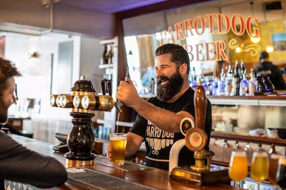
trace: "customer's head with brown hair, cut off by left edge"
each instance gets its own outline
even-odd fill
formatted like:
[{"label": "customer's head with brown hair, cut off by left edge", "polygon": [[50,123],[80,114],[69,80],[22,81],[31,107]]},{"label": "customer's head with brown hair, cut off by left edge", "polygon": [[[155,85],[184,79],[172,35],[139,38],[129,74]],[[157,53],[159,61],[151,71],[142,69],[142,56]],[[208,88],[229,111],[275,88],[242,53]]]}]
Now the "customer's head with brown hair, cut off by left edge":
[{"label": "customer's head with brown hair, cut off by left edge", "polygon": [[0,123],[7,121],[8,108],[16,102],[14,76],[20,75],[10,61],[0,58]]}]

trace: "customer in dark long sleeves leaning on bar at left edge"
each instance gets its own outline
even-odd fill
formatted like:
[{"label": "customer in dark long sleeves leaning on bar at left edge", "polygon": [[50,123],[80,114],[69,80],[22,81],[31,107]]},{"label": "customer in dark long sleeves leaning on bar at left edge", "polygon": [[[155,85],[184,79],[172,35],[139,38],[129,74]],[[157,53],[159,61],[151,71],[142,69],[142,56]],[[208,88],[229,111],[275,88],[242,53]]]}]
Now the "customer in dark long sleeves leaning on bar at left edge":
[{"label": "customer in dark long sleeves leaning on bar at left edge", "polygon": [[[20,75],[10,61],[0,58],[0,128],[16,102],[14,76]],[[0,190],[4,180],[51,188],[67,181],[67,171],[55,158],[31,151],[0,131]]]}]

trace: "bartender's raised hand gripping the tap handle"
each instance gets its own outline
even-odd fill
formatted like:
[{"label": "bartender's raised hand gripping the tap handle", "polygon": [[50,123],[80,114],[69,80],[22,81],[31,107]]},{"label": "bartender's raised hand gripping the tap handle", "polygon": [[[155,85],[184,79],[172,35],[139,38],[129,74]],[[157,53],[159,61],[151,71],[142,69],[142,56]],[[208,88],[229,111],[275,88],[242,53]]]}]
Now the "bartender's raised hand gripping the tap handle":
[{"label": "bartender's raised hand gripping the tap handle", "polygon": [[116,98],[128,107],[134,107],[141,99],[133,82],[128,77],[125,77],[125,81],[120,81],[117,90]]}]

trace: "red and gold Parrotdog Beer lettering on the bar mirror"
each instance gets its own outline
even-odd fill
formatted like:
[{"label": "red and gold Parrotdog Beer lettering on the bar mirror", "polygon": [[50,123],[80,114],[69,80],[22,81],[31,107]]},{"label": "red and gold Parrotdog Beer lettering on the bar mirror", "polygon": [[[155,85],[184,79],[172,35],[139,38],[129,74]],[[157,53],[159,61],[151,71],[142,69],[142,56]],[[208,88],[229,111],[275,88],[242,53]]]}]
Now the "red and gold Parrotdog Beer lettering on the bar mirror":
[{"label": "red and gold Parrotdog Beer lettering on the bar mirror", "polygon": [[[161,36],[166,35],[166,38],[160,38],[160,46],[166,43],[177,43],[178,41],[185,40],[189,36],[202,35],[209,27],[210,34],[227,34],[232,32],[236,36],[241,36],[245,32],[252,38],[260,38],[258,19],[254,16],[249,16],[246,20],[240,14],[233,14],[228,17],[226,14],[207,14],[205,16],[197,16],[193,19],[185,19],[182,22],[177,22],[174,26],[169,26],[168,30],[161,31]],[[216,30],[214,30],[216,28]],[[241,51],[250,52],[251,55],[257,55],[261,49],[256,44],[244,46],[243,44],[236,44],[236,39],[231,39],[228,42],[230,49],[239,47]],[[191,61],[208,60],[227,60],[225,53],[226,43],[222,40],[196,44],[195,46],[183,45],[188,53],[191,55]],[[205,49],[205,55],[203,55]]]}]

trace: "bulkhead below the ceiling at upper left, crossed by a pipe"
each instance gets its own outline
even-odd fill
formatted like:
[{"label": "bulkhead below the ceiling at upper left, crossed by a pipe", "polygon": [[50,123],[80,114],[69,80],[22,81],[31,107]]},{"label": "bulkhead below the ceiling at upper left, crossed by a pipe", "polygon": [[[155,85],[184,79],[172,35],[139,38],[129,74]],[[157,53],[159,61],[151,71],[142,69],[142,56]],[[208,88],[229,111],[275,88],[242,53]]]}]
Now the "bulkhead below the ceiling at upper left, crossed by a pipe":
[{"label": "bulkhead below the ceiling at upper left, crossed by a pipe", "polygon": [[[61,1],[54,3],[53,7],[55,31],[69,31],[98,39],[113,37],[113,14],[64,6]],[[0,15],[0,30],[36,34],[50,28],[50,11],[41,0],[1,0]]]}]

